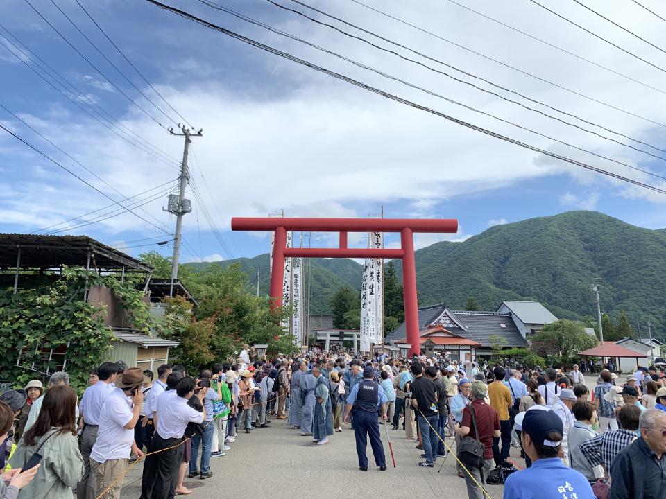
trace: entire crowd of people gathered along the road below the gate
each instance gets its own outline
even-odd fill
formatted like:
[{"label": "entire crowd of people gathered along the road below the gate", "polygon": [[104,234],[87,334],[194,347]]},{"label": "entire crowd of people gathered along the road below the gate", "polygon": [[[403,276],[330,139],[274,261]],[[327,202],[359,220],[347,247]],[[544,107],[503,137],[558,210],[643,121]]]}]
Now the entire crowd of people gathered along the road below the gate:
[{"label": "entire crowd of people gathered along the road below the gate", "polygon": [[271,419],[313,446],[353,430],[364,472],[368,439],[386,471],[379,428],[391,425],[422,450],[422,468],[454,454],[470,499],[489,497],[489,483],[504,483],[512,499],[666,497],[666,378],[654,367],[624,383],[603,369],[590,393],[577,365],[564,372],[317,349],[259,358],[248,345],[231,360],[189,374],[180,365],[153,373],[104,362],[80,401],[65,372],[46,389],[31,380],[4,392],[0,499],[119,499],[137,460],[142,499],[188,495],[186,476],[212,477],[213,458]]}]

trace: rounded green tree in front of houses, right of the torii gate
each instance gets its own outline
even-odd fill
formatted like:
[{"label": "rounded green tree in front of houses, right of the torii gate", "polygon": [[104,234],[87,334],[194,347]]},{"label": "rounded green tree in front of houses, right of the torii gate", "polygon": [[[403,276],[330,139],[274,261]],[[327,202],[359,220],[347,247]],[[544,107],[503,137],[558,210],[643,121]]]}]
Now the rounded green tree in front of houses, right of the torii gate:
[{"label": "rounded green tree in front of houses, right of the torii gate", "polygon": [[585,332],[583,323],[560,319],[543,326],[543,330],[532,337],[530,348],[557,364],[569,364],[579,358],[579,351],[597,344],[597,340]]}]

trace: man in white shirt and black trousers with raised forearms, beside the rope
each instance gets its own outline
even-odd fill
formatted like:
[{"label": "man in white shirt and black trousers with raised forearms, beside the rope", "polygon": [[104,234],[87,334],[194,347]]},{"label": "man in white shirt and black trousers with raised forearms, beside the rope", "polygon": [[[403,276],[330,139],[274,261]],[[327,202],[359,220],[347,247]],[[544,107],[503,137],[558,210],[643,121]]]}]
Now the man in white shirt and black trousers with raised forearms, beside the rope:
[{"label": "man in white shirt and black trousers with raised forearms, beside the rope", "polygon": [[[146,458],[141,484],[141,499],[173,498],[178,481],[178,468],[182,462],[184,447],[182,436],[187,423],[202,423],[206,417],[206,409],[198,412],[187,404],[194,395],[194,378],[187,376],[178,381],[176,396],[164,394],[153,408],[155,435],[151,452]],[[207,388],[199,390],[197,397],[203,405]],[[164,450],[164,449],[169,450]],[[161,451],[161,452],[157,452]]]}]

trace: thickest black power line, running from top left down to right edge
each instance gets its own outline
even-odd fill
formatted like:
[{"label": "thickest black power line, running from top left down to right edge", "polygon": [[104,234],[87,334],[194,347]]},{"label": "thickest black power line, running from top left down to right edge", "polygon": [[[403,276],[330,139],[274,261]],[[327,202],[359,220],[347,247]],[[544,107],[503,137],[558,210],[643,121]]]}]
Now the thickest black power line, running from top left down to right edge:
[{"label": "thickest black power line, running from top left down to right edge", "polygon": [[335,71],[332,71],[330,69],[325,69],[321,66],[318,66],[317,64],[313,64],[311,62],[308,62],[307,60],[303,60],[301,58],[298,58],[295,55],[291,55],[289,53],[280,51],[280,50],[275,49],[271,46],[263,44],[261,42],[257,42],[256,40],[248,38],[244,35],[239,35],[238,33],[234,33],[231,30],[223,28],[222,26],[218,26],[216,24],[211,23],[210,21],[205,21],[205,19],[200,19],[199,17],[196,17],[192,14],[189,14],[189,12],[185,12],[184,10],[180,10],[180,9],[177,9],[177,8],[174,8],[174,7],[171,7],[171,6],[167,6],[164,3],[160,3],[157,0],[146,0],[146,1],[148,1],[149,3],[153,3],[153,5],[158,6],[162,9],[164,9],[164,10],[169,10],[169,12],[176,13],[177,15],[180,15],[181,17],[183,17],[185,19],[189,19],[190,21],[194,21],[197,24],[200,24],[200,25],[205,26],[207,28],[210,28],[212,30],[219,31],[220,33],[223,33],[224,35],[228,35],[229,37],[232,37],[236,40],[239,40],[241,42],[244,42],[246,44],[254,46],[257,49],[262,49],[263,51],[266,51],[268,53],[272,53],[274,55],[279,55],[282,58],[285,58],[287,60],[291,60],[292,62],[296,62],[297,64],[302,64],[305,67],[309,67],[310,69],[314,69],[315,71],[323,73],[327,76],[331,76],[332,78],[342,80],[344,82],[349,83],[350,85],[355,85],[356,87],[359,87],[361,89],[366,89],[367,91],[370,91],[373,94],[377,94],[377,95],[382,96],[384,98],[394,100],[395,102],[398,102],[398,103],[401,103],[401,104],[404,104],[404,105],[408,105],[409,107],[413,107],[414,109],[418,109],[418,110],[421,110],[421,111],[428,112],[430,114],[434,114],[435,116],[439,116],[443,119],[446,119],[447,121],[451,121],[452,123],[456,123],[456,124],[462,125],[466,128],[476,130],[477,132],[481,132],[483,134],[490,135],[490,137],[495,137],[497,139],[500,139],[500,140],[503,140],[503,141],[506,141],[506,142],[509,142],[509,143],[513,143],[517,146],[521,146],[523,148],[532,150],[534,152],[539,152],[540,154],[552,157],[554,159],[560,159],[561,161],[565,161],[567,163],[570,163],[570,164],[573,164],[573,165],[576,165],[576,166],[580,166],[581,168],[586,168],[587,170],[595,171],[597,173],[601,173],[603,175],[615,178],[617,180],[622,180],[624,182],[629,182],[631,184],[641,186],[644,189],[649,189],[651,191],[655,191],[655,192],[658,192],[658,193],[661,193],[661,194],[666,194],[666,190],[660,189],[657,186],[653,186],[653,185],[650,185],[650,184],[645,184],[644,182],[640,182],[638,180],[634,180],[634,179],[631,179],[631,178],[628,178],[628,177],[624,177],[622,175],[610,172],[608,170],[604,170],[602,168],[597,168],[596,166],[592,166],[590,164],[583,163],[583,161],[577,161],[577,160],[569,158],[569,157],[558,155],[555,152],[545,150],[545,149],[542,149],[542,148],[538,148],[537,146],[532,146],[529,143],[524,143],[522,141],[518,141],[517,139],[511,139],[511,137],[506,137],[506,136],[504,136],[502,134],[499,134],[497,132],[493,132],[491,130],[487,130],[486,128],[481,128],[477,125],[473,125],[472,123],[468,123],[468,122],[463,121],[461,119],[454,118],[453,116],[450,116],[450,115],[445,114],[443,112],[440,112],[438,110],[434,110],[431,107],[420,105],[420,104],[412,102],[411,100],[407,100],[405,98],[395,96],[393,94],[389,94],[386,91],[383,91],[381,89],[377,89],[376,87],[372,87],[370,85],[366,85],[363,82],[360,82],[358,80],[354,80],[353,78],[345,76],[341,73],[336,73]]}]

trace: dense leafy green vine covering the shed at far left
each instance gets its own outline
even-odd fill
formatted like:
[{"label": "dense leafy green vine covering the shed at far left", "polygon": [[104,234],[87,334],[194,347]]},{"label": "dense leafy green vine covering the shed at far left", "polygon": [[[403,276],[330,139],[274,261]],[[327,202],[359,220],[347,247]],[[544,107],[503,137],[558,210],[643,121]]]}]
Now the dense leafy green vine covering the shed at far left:
[{"label": "dense leafy green vine covering the shed at far left", "polygon": [[[0,373],[17,387],[33,378],[42,378],[35,369],[53,372],[67,360],[71,386],[80,392],[87,385],[90,367],[99,364],[108,351],[114,335],[103,324],[103,308],[83,301],[86,281],[103,285],[96,272],[80,268],[65,269],[61,279],[42,286],[0,291]],[[133,311],[133,310],[130,310]],[[69,344],[69,346],[67,346]],[[49,352],[67,349],[67,356]],[[21,353],[20,365],[17,358]]]}]

